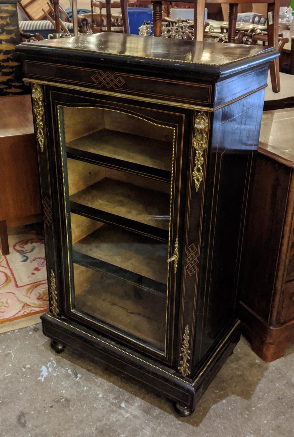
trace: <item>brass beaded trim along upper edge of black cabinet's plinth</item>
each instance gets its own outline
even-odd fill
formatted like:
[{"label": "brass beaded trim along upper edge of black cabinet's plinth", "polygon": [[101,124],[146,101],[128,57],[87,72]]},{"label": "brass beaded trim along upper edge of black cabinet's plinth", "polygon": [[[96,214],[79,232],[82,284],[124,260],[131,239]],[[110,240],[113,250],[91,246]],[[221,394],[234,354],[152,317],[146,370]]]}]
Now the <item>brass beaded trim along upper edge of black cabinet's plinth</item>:
[{"label": "brass beaded trim along upper edge of black cabinet's plinth", "polygon": [[230,332],[228,333],[228,335],[225,337],[225,339],[221,342],[221,344],[219,345],[219,347],[217,348],[217,350],[214,352],[214,354],[211,356],[211,358],[209,359],[209,361],[207,362],[207,364],[204,366],[204,368],[201,370],[201,372],[199,373],[199,375],[197,375],[197,377],[194,379],[193,383],[188,382],[186,379],[180,378],[179,376],[173,375],[171,372],[168,372],[166,370],[163,370],[162,368],[156,366],[155,364],[151,364],[148,361],[143,360],[142,358],[136,357],[133,354],[130,354],[129,352],[126,352],[125,350],[114,346],[111,343],[108,343],[107,341],[101,340],[100,338],[98,338],[97,336],[91,335],[86,333],[85,331],[82,331],[82,329],[76,328],[76,326],[73,325],[69,325],[69,323],[64,322],[63,320],[59,320],[56,317],[51,316],[50,314],[45,314],[45,317],[50,317],[51,319],[57,320],[59,323],[63,323],[66,326],[69,326],[70,328],[75,329],[78,332],[81,332],[82,334],[87,335],[88,337],[91,337],[97,341],[99,341],[100,343],[104,343],[107,344],[107,346],[110,346],[116,350],[119,350],[120,352],[122,352],[125,355],[128,355],[129,357],[133,357],[138,361],[141,361],[142,363],[148,364],[150,367],[157,369],[163,373],[166,373],[166,375],[171,376],[172,378],[175,379],[179,379],[180,381],[185,382],[186,384],[190,385],[191,387],[193,387],[194,385],[196,385],[196,382],[201,378],[201,376],[204,374],[204,372],[207,370],[207,368],[209,367],[209,365],[211,364],[211,362],[214,360],[215,356],[218,354],[218,351],[221,349],[221,347],[223,347],[223,345],[225,344],[225,342],[228,340],[229,336],[234,332],[234,330],[236,329],[236,327],[240,324],[240,320],[238,320],[235,325],[232,327],[232,329],[230,330]]}]

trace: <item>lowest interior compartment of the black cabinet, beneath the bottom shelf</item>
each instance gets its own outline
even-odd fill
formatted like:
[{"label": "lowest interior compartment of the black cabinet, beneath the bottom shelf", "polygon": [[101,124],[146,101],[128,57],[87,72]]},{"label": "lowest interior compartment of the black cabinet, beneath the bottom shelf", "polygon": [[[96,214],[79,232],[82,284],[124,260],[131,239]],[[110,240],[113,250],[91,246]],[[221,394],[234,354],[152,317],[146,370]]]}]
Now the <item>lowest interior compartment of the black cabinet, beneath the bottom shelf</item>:
[{"label": "lowest interior compartment of the black cabinet, beneath the bottom shelf", "polygon": [[77,315],[164,350],[166,290],[154,293],[81,264],[73,264],[73,271]]}]

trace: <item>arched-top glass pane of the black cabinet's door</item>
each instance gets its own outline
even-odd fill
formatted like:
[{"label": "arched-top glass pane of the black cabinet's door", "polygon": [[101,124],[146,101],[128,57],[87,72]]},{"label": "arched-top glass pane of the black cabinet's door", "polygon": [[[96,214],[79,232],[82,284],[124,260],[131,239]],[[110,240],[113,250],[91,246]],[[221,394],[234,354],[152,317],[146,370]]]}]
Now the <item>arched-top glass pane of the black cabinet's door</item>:
[{"label": "arched-top glass pane of the black cabinet's door", "polygon": [[72,310],[165,349],[174,129],[102,108],[59,107]]}]

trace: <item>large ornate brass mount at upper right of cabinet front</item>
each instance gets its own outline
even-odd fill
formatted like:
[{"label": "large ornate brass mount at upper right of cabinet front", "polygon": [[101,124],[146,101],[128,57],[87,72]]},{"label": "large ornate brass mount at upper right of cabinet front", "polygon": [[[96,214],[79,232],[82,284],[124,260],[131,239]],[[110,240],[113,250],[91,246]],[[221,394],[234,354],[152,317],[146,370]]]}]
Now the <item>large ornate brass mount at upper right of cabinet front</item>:
[{"label": "large ornate brass mount at upper right of cabinet front", "polygon": [[193,179],[195,183],[195,189],[198,191],[201,180],[203,179],[203,151],[208,146],[208,116],[204,111],[199,112],[194,121],[194,137],[192,139],[192,146],[196,150],[194,159]]}]

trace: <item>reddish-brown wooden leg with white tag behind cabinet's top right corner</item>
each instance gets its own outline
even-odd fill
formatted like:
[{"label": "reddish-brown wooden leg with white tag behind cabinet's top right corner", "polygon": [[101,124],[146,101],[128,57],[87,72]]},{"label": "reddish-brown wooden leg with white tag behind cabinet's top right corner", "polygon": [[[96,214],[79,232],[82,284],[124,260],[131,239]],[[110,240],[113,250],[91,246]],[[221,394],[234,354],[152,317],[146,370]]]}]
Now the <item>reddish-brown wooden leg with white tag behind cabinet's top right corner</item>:
[{"label": "reddish-brown wooden leg with white tag behind cabinet's top right corner", "polygon": [[[267,5],[267,43],[270,47],[279,48],[279,14],[280,0]],[[280,86],[280,68],[279,58],[270,62],[270,80],[274,93],[279,93]]]}]

